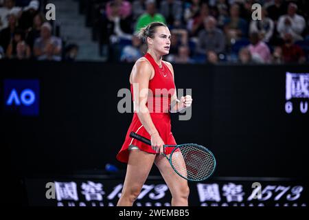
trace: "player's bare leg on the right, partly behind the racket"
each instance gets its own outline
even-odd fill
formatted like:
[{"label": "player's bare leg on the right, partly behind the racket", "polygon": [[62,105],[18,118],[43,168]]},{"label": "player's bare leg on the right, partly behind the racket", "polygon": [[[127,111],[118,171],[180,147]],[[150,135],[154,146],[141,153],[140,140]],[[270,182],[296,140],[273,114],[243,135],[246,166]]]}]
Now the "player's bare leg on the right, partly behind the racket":
[{"label": "player's bare leg on the right, partly behind the racket", "polygon": [[[155,164],[159,168],[165,183],[168,184],[168,188],[172,194],[172,206],[188,206],[187,199],[190,189],[187,186],[187,180],[175,173],[164,156],[157,155]],[[185,162],[183,162],[183,166],[185,167]]]}]

